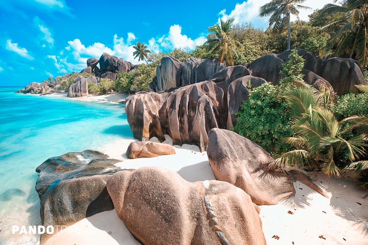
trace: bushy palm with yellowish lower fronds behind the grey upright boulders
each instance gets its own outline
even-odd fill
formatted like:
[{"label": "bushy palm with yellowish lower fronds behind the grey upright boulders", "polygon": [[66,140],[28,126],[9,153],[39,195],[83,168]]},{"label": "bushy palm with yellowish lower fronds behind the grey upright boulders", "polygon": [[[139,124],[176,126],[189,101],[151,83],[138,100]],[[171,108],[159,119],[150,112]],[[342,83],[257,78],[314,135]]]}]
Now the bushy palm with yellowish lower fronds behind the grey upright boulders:
[{"label": "bushy palm with yellowish lower fronds behind the grey upright boulders", "polygon": [[211,58],[217,53],[219,62],[224,60],[229,66],[234,65],[234,55],[238,58],[235,48],[244,50],[243,45],[230,37],[231,24],[234,22],[234,18],[230,18],[226,21],[220,20],[220,25],[208,27],[208,31],[212,32],[209,35],[208,40],[204,43],[207,50],[210,51]]}]

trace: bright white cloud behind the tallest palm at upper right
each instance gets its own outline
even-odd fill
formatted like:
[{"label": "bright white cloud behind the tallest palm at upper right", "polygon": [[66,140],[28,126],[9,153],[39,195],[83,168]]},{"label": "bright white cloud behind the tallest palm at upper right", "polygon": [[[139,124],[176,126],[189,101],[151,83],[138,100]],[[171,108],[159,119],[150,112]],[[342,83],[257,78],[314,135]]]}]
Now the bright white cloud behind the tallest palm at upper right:
[{"label": "bright white cloud behind the tallest palm at upper right", "polygon": [[[219,19],[227,20],[229,18],[234,18],[235,24],[247,22],[252,23],[252,25],[254,25],[254,27],[256,28],[265,29],[268,27],[270,16],[261,18],[258,15],[260,7],[268,3],[269,1],[270,0],[248,0],[243,1],[243,3],[236,3],[235,8],[231,10],[229,14],[226,13],[226,9],[221,10],[219,12],[220,16]],[[313,10],[317,8],[320,9],[327,3],[333,3],[333,0],[314,1],[313,6],[308,5],[308,1],[306,1],[304,4],[301,5],[312,7],[312,9],[309,10],[299,9],[299,18],[301,20],[308,21],[309,20],[308,15],[311,14]],[[291,20],[292,21],[296,20],[296,17],[292,15]]]}]

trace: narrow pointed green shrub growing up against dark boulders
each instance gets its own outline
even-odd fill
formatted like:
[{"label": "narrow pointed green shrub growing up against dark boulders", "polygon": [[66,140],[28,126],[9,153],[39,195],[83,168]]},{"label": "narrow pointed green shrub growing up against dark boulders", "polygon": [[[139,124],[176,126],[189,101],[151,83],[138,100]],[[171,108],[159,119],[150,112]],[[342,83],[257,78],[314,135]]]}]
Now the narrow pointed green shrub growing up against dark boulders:
[{"label": "narrow pointed green shrub growing up against dark boulders", "polygon": [[282,70],[280,71],[280,74],[285,76],[285,78],[280,80],[281,86],[289,83],[303,84],[304,81],[301,71],[304,67],[304,59],[298,55],[296,49],[290,52],[288,58],[289,60],[282,64]]}]

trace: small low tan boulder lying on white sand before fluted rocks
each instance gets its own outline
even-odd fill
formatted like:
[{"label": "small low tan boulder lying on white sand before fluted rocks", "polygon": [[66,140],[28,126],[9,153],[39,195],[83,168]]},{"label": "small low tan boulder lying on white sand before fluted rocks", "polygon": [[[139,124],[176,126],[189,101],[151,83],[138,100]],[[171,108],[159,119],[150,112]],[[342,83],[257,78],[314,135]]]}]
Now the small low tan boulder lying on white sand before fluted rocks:
[{"label": "small low tan boulder lying on white sand before fluted rocks", "polygon": [[130,159],[154,158],[163,155],[175,154],[175,148],[168,144],[157,142],[134,141],[129,144],[126,156]]}]

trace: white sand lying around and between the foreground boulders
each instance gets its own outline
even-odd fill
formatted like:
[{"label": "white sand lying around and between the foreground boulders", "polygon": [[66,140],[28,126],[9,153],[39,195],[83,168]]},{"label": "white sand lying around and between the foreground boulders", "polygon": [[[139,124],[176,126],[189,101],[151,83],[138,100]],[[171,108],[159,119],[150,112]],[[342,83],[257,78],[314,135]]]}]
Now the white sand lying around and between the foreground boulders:
[{"label": "white sand lying around and between the foreground boulders", "polygon": [[[198,147],[176,147],[176,155],[129,160],[125,151],[132,140],[120,140],[102,149],[120,159],[122,168],[163,166],[187,181],[215,179],[206,152]],[[171,143],[170,139],[167,143]],[[368,244],[368,199],[350,179],[319,175],[316,184],[329,198],[294,183],[296,195],[277,205],[260,206],[260,217],[268,245],[364,245]],[[54,235],[47,245],[138,245],[114,210],[96,214]]]}]

